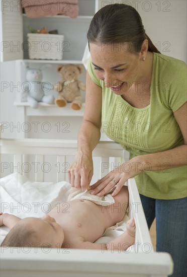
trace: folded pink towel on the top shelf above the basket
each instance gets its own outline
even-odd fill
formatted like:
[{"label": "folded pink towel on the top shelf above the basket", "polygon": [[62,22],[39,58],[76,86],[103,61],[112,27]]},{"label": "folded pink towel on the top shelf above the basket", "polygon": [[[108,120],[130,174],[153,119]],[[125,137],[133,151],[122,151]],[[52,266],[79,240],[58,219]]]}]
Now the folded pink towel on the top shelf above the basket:
[{"label": "folded pink towel on the top shelf above the basket", "polygon": [[30,18],[64,15],[78,16],[78,0],[22,0],[22,8]]}]

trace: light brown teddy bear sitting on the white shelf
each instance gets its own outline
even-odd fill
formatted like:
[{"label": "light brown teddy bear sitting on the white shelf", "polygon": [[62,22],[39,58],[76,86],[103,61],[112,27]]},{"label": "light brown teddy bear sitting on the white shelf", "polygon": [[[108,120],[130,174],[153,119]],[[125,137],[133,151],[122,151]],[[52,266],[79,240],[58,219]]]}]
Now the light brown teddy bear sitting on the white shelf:
[{"label": "light brown teddy bear sitting on the white shelf", "polygon": [[85,85],[78,80],[83,72],[81,65],[65,64],[57,67],[57,72],[62,77],[62,81],[55,84],[54,89],[58,92],[55,103],[59,107],[65,107],[67,103],[72,103],[73,110],[79,110],[82,106],[80,90],[85,91]]}]

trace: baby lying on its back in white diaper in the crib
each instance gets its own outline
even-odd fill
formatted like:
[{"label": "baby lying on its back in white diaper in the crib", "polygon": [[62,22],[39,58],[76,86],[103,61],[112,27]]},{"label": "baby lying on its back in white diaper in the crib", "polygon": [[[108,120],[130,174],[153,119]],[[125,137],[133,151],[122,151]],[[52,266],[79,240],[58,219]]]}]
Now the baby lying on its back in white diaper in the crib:
[{"label": "baby lying on its back in white diaper in the crib", "polygon": [[[10,232],[1,246],[81,248],[125,251],[135,242],[135,222],[127,222],[127,230],[109,243],[94,243],[108,227],[122,221],[128,207],[128,188],[123,186],[112,197],[91,195],[72,188],[68,201],[56,205],[43,218],[20,219],[10,214],[0,214],[0,226]],[[45,246],[46,245],[46,246]]]}]

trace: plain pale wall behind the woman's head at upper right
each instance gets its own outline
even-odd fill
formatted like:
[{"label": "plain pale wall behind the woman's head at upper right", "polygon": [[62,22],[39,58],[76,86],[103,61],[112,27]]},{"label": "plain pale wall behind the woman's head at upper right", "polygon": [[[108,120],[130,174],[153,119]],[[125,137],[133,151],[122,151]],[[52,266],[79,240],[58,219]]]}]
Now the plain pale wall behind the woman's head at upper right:
[{"label": "plain pale wall behind the woman's head at upper right", "polygon": [[135,8],[147,35],[162,54],[186,62],[186,1],[185,0],[100,0],[100,8],[115,3]]}]

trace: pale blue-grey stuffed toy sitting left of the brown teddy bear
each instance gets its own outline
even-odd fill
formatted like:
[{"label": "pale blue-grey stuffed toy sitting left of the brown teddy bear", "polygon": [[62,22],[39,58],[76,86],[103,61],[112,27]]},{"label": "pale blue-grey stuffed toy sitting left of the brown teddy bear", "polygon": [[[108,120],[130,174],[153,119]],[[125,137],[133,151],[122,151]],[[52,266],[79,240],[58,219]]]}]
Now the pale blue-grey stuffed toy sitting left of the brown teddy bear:
[{"label": "pale blue-grey stuffed toy sitting left of the brown teddy bear", "polygon": [[34,109],[38,107],[38,102],[54,103],[53,95],[45,95],[45,92],[53,89],[53,85],[48,82],[41,82],[42,78],[40,69],[29,68],[26,74],[27,82],[23,85],[22,101],[27,101],[30,107]]}]

